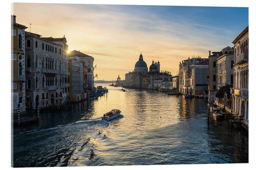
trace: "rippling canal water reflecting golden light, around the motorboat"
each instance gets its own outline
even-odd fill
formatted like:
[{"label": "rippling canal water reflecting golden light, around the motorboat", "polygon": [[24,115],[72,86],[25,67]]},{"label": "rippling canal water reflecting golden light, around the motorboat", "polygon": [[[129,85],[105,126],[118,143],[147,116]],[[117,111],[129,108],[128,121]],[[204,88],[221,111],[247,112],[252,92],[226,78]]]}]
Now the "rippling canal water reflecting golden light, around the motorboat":
[{"label": "rippling canal water reflecting golden light, around the motorboat", "polygon": [[[248,133],[208,125],[203,99],[98,85],[109,93],[13,129],[14,167],[248,162]],[[111,109],[121,115],[101,120]]]}]

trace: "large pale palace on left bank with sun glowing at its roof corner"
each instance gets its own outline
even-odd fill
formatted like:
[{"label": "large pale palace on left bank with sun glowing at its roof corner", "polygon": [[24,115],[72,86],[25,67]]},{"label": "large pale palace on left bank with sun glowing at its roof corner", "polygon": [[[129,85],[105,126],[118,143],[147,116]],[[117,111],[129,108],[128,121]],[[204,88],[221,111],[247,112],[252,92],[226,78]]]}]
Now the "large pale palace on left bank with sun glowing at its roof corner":
[{"label": "large pale palace on left bank with sun glowing at its roof corner", "polygon": [[26,104],[29,109],[61,106],[69,101],[69,71],[65,37],[41,37],[25,32]]}]

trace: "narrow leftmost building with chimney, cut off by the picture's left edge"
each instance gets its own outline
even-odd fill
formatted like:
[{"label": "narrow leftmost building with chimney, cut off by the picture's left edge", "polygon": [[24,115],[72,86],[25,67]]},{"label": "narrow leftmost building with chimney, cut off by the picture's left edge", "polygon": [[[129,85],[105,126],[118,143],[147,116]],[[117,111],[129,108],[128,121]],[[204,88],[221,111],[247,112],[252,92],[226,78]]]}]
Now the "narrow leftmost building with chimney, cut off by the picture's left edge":
[{"label": "narrow leftmost building with chimney, cut off by the picture's left edge", "polygon": [[12,113],[26,111],[26,74],[25,74],[25,29],[11,16],[11,83]]}]

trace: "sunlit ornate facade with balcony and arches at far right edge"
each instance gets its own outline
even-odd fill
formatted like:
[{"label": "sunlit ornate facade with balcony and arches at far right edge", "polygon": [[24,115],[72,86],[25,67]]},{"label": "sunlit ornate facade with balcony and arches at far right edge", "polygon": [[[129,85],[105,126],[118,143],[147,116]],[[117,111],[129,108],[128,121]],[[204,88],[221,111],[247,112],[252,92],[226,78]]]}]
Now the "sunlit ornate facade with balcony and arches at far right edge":
[{"label": "sunlit ornate facade with balcony and arches at far right edge", "polygon": [[248,128],[248,61],[249,61],[249,28],[247,27],[233,40],[234,44],[234,82],[231,89],[232,112],[242,118],[242,124]]}]

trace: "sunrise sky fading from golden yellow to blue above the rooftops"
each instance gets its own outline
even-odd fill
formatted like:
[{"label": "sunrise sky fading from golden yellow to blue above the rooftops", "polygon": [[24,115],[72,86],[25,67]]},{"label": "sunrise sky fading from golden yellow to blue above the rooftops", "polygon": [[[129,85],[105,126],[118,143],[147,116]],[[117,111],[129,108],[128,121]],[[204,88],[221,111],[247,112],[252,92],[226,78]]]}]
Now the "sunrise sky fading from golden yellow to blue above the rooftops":
[{"label": "sunrise sky fading from golden yellow to blue above the rooftops", "polygon": [[148,68],[159,61],[175,76],[179,62],[232,47],[248,26],[248,8],[240,7],[14,3],[13,14],[32,33],[65,35],[69,51],[93,56],[95,80],[124,79],[140,53]]}]

